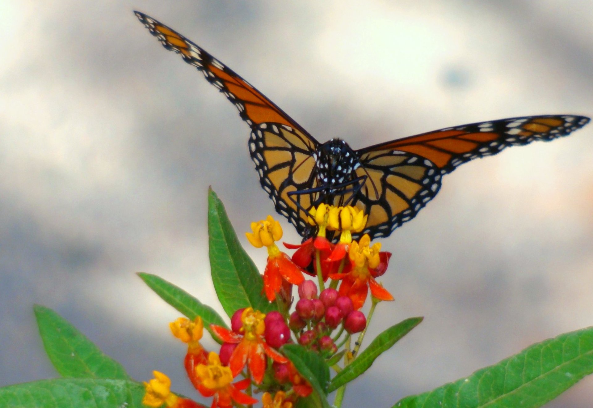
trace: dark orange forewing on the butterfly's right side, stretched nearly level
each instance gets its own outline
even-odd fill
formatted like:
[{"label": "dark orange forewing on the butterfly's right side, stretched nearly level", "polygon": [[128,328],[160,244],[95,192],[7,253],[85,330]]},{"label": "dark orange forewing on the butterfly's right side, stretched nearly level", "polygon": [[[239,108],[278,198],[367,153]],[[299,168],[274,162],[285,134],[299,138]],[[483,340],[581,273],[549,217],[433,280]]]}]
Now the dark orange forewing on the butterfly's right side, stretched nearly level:
[{"label": "dark orange forewing on the butterfly's right side, stretched nearly level", "polygon": [[497,154],[507,146],[566,136],[588,122],[588,117],[574,115],[513,117],[448,127],[370,146],[360,152],[384,149],[408,152],[432,161],[442,174],[447,174],[460,164]]}]

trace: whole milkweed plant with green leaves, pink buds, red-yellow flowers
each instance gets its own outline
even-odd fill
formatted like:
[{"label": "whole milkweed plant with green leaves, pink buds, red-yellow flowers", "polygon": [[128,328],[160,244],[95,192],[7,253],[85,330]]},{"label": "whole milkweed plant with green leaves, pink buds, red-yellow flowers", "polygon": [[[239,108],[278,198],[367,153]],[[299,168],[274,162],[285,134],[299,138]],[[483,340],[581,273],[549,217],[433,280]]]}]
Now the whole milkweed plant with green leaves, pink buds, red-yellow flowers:
[{"label": "whole milkweed plant with green leaves, pink buds, red-yellow flowers", "polygon": [[[253,222],[247,240],[268,254],[260,274],[212,190],[208,201],[212,281],[228,319],[172,283],[138,274],[183,314],[168,330],[179,340],[180,353],[187,349],[179,368],[196,393],[209,399],[211,408],[353,406],[347,385],[422,321],[407,318],[381,327],[370,342],[365,338],[375,308],[393,307],[384,302],[394,297],[393,288],[380,282],[391,254],[368,235],[352,240],[365,227],[364,213],[320,204],[309,217],[317,234],[298,245],[279,244],[282,228],[272,216]],[[154,378],[135,381],[58,314],[41,306],[34,311],[61,377],[0,388],[0,407],[205,407],[174,393],[175,384],[158,367]],[[162,327],[167,330],[167,323]],[[206,332],[219,347],[202,346]],[[539,407],[592,371],[588,328],[532,345],[393,407]]]}]

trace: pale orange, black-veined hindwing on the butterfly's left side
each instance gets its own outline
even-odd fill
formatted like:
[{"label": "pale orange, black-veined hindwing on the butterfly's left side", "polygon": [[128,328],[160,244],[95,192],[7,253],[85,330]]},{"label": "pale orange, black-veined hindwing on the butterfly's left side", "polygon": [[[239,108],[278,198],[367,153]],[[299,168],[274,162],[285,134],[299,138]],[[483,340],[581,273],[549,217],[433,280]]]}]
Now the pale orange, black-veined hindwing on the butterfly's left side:
[{"label": "pale orange, black-veined hindwing on the butterfly's left side", "polygon": [[[262,187],[276,211],[288,218],[304,235],[307,214],[318,192],[289,195],[315,189],[315,151],[318,142],[298,129],[280,123],[262,123],[255,127],[249,139],[249,152],[256,164]],[[295,203],[297,202],[297,203]]]}]

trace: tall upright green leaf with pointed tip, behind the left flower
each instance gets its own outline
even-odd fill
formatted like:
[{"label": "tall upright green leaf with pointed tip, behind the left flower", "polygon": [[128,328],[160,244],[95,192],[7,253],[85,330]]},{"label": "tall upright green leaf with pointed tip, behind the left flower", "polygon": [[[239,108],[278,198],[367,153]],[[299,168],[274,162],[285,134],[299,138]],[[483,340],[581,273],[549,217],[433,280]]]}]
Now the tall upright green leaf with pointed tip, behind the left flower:
[{"label": "tall upright green leaf with pointed tip, behind the left flower", "polygon": [[244,307],[263,313],[276,310],[275,303],[262,294],[262,275],[239,244],[224,205],[212,189],[208,190],[208,237],[212,283],[229,317]]}]

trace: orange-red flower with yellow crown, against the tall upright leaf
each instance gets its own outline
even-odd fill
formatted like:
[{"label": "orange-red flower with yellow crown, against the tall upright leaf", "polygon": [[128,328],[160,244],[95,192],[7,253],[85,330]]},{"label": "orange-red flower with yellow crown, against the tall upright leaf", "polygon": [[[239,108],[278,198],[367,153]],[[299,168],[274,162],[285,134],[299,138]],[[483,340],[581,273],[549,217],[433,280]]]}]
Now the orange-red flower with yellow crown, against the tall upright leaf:
[{"label": "orange-red flower with yellow crown, against the tall upright leaf", "polygon": [[267,299],[271,302],[282,288],[282,279],[300,285],[304,276],[302,270],[292,260],[279,250],[275,241],[282,238],[282,227],[271,215],[265,220],[251,222],[251,230],[247,232],[247,240],[256,248],[267,247],[267,264],[263,273],[263,286]]}]

